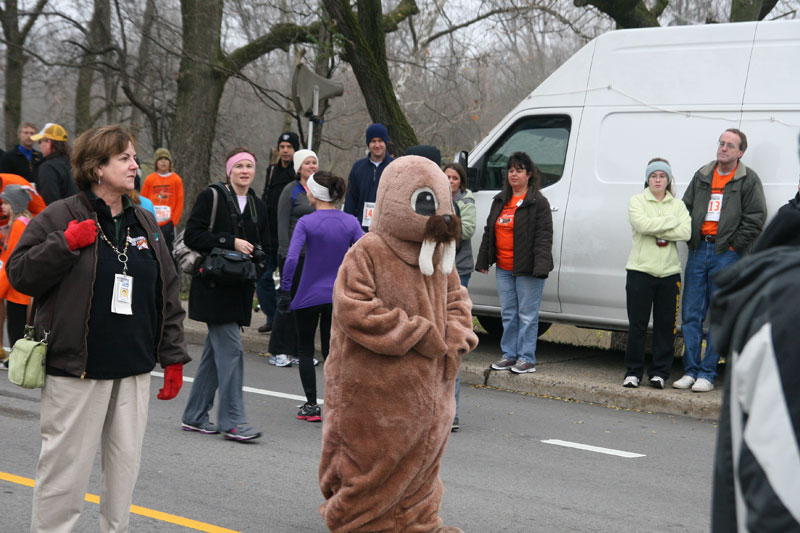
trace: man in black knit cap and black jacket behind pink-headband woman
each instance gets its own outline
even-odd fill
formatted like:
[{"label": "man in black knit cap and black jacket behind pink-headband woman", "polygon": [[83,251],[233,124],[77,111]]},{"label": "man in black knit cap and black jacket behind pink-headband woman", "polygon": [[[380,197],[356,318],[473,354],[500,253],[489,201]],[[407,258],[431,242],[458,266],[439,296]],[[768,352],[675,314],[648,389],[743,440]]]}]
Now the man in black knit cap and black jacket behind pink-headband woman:
[{"label": "man in black knit cap and black jacket behind pink-headband woman", "polygon": [[256,285],[256,294],[261,310],[267,322],[258,328],[259,333],[272,331],[272,320],[275,318],[278,293],[272,274],[278,268],[278,200],[287,183],[294,181],[294,153],[300,149],[300,138],[293,131],[286,131],[278,137],[278,161],[267,168],[267,181],[261,199],[267,204],[267,220],[269,222],[269,249],[267,252],[267,268]]}]

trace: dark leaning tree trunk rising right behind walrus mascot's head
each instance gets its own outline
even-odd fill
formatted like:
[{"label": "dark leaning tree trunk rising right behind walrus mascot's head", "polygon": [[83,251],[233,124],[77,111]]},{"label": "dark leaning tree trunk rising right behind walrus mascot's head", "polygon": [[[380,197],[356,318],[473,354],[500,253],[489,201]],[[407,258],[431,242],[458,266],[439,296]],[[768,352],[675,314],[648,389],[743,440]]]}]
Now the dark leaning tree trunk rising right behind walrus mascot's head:
[{"label": "dark leaning tree trunk rising right behind walrus mascot's head", "polygon": [[[348,0],[323,0],[325,9],[344,36],[344,60],[353,69],[369,115],[389,130],[389,151],[402,154],[418,144],[414,129],[397,101],[386,62],[386,21],[379,0],[358,0],[358,18]],[[400,16],[416,13],[414,2],[401,2]]]}]

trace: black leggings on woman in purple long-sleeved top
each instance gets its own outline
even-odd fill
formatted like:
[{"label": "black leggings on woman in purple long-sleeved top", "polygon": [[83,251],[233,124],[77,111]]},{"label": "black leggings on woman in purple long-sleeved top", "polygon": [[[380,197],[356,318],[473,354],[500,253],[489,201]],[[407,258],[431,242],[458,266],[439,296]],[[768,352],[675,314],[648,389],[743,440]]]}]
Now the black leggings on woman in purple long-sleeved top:
[{"label": "black leggings on woman in purple long-sleeved top", "polygon": [[319,338],[322,344],[322,359],[328,357],[331,345],[331,316],[333,304],[315,305],[294,310],[297,324],[297,358],[300,359],[300,382],[306,393],[306,401],[317,403],[317,375],[314,372],[314,336],[319,323]]}]

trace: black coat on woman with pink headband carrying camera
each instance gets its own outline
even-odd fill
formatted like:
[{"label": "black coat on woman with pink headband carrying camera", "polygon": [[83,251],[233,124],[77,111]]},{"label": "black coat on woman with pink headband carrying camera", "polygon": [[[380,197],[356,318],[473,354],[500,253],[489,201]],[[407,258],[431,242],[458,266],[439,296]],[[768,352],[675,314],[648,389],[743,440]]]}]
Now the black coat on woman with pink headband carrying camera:
[{"label": "black coat on woman with pink headband carrying camera", "polygon": [[[208,253],[212,248],[235,250],[234,226],[231,220],[228,201],[218,189],[217,216],[214,219],[214,231],[208,231],[211,218],[213,193],[206,188],[197,195],[189,220],[186,222],[184,242],[198,252]],[[259,243],[266,249],[269,239],[267,227],[267,208],[256,196],[253,189],[247,191],[248,205],[244,213],[238,213],[239,204],[234,200],[237,211],[238,236],[253,244]],[[255,206],[256,220],[250,213],[249,205]],[[236,322],[240,326],[250,325],[253,312],[254,284],[241,287],[218,287],[195,276],[189,289],[189,318],[208,324],[228,324]]]}]

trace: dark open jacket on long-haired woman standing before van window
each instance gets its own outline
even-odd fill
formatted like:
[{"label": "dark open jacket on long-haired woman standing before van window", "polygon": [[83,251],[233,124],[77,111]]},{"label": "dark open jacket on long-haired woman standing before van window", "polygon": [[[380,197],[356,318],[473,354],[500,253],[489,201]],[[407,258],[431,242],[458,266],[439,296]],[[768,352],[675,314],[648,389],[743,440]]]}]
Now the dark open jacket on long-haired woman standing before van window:
[{"label": "dark open jacket on long-haired woman standing before van window", "polygon": [[[475,270],[487,270],[497,262],[494,225],[505,205],[503,193],[492,200],[483,239],[475,258]],[[546,278],[553,270],[553,217],[550,203],[538,190],[528,193],[514,215],[514,276]]]}]

